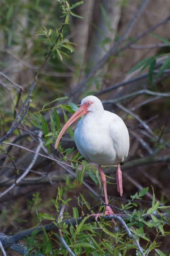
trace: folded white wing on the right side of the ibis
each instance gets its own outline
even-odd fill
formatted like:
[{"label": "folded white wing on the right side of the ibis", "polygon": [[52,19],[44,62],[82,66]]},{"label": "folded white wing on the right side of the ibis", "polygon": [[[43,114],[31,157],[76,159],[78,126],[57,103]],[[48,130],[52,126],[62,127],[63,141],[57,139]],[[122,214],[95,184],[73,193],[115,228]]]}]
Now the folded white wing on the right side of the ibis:
[{"label": "folded white wing on the right side of the ibis", "polygon": [[114,113],[109,124],[109,133],[118,159],[124,162],[129,152],[129,133],[123,120]]}]

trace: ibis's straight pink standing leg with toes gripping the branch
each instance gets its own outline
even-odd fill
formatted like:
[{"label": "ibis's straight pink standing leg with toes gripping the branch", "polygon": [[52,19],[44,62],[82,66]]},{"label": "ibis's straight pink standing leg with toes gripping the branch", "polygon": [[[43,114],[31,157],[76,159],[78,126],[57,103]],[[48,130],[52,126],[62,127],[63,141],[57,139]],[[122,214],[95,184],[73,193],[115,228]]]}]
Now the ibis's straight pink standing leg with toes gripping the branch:
[{"label": "ibis's straight pink standing leg with toes gripping the branch", "polygon": [[[105,204],[107,205],[106,206],[106,210],[105,210],[105,215],[114,215],[112,209],[110,208],[110,206],[108,206],[109,202],[108,202],[108,195],[107,195],[107,188],[106,188],[106,177],[104,175],[104,172],[101,168],[101,166],[99,165],[98,166],[98,169],[99,169],[99,173],[100,173],[100,177],[101,177],[101,183],[103,185],[103,192],[104,192],[104,198],[105,198]],[[95,215],[95,219],[97,220],[98,219],[98,216],[100,215],[99,213],[98,214],[91,214],[91,215]],[[102,214],[101,214],[102,215]],[[116,225],[114,219],[112,219],[113,223]]]}]

